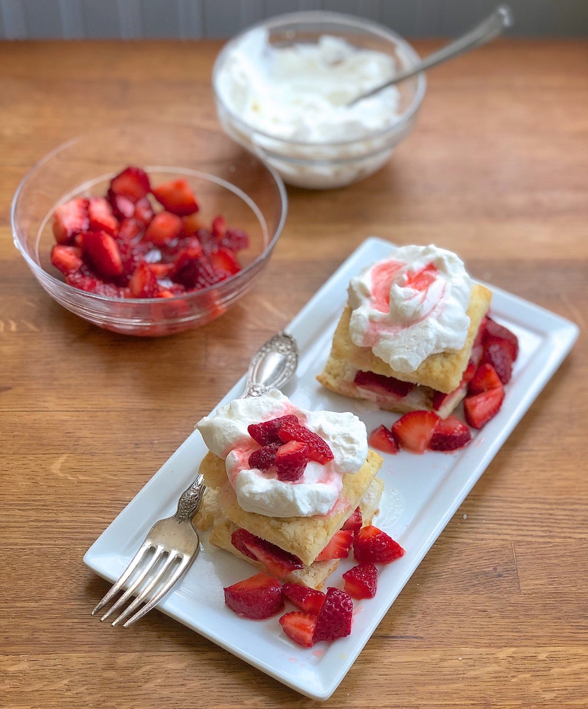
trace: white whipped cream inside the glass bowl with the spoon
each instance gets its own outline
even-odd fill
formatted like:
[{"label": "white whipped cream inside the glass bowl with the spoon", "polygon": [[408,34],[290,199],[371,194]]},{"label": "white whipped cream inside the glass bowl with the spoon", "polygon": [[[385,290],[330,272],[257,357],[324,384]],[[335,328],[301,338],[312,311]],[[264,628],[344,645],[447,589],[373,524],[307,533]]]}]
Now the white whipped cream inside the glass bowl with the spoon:
[{"label": "white whipped cream inside the glass bowl with the spoon", "polygon": [[398,120],[389,86],[347,106],[396,72],[394,57],[324,35],[317,43],[274,47],[267,30],[243,35],[215,76],[223,104],[253,128],[286,140],[332,143],[364,138]]}]

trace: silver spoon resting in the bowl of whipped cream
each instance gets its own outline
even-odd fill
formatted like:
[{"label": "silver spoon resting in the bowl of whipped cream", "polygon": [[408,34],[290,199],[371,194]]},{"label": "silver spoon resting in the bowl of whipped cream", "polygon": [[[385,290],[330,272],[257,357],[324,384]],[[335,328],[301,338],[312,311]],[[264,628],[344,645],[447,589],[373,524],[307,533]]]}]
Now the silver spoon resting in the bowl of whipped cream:
[{"label": "silver spoon resting in the bowl of whipped cream", "polygon": [[354,104],[357,104],[357,101],[367,99],[368,96],[377,94],[379,91],[382,91],[382,89],[386,89],[387,86],[393,86],[394,84],[398,84],[398,82],[404,82],[404,79],[409,79],[410,77],[413,77],[414,74],[423,72],[425,69],[431,69],[431,67],[435,67],[436,65],[446,62],[448,59],[453,59],[453,57],[457,57],[465,52],[469,52],[476,47],[481,47],[490,40],[493,40],[495,37],[498,37],[498,35],[501,35],[506,27],[510,27],[512,25],[512,22],[512,13],[509,6],[499,5],[492,15],[487,17],[468,33],[455,40],[455,42],[451,42],[438,50],[438,52],[433,52],[433,54],[428,55],[426,59],[423,59],[417,65],[414,65],[414,67],[405,69],[404,72],[399,72],[399,74],[396,74],[396,76],[393,79],[390,79],[389,82],[386,82],[381,86],[376,86],[375,89],[367,91],[366,94],[357,96],[347,105],[353,106]]}]

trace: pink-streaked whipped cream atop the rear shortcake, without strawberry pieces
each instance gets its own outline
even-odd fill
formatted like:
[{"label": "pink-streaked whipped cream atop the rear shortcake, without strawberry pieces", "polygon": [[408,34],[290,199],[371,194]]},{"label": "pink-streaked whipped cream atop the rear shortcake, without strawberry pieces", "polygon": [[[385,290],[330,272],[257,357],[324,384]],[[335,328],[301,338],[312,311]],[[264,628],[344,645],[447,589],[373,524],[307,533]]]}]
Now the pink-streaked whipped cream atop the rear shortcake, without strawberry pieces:
[{"label": "pink-streaked whipped cream atop the rear shortcake, without strawberry pieces", "polygon": [[454,253],[433,245],[396,248],[350,281],[351,340],[396,372],[414,372],[429,354],[465,345],[471,292]]}]

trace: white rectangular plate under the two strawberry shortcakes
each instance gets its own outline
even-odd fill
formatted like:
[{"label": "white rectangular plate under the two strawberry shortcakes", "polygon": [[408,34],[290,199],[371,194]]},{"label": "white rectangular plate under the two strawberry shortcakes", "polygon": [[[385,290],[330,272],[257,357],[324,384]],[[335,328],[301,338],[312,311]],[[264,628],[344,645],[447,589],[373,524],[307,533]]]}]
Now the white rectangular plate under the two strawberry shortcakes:
[{"label": "white rectangular plate under the two strawberry shortcakes", "polygon": [[[392,425],[398,415],[373,411],[360,402],[331,393],[318,384],[315,376],[322,371],[330,351],[350,278],[386,256],[390,248],[389,242],[367,239],[287,328],[298,342],[301,357],[296,381],[285,387],[284,393],[301,408],[353,411],[362,418],[368,431],[380,423]],[[513,330],[520,343],[504,404],[482,431],[474,432],[474,440],[463,450],[452,454],[416,455],[403,451],[396,456],[384,455],[379,475],[385,490],[375,523],[392,535],[406,549],[406,554],[382,567],[375,598],[355,602],[360,612],[355,614],[349,637],[330,645],[319,643],[314,648],[302,649],[287,639],[277,618],[265,621],[238,618],[224,605],[223,586],[251,576],[252,568],[211,547],[206,535],[194,566],[158,608],[296,691],[319,700],[331,696],[421,559],[578,335],[573,323],[499,289],[492,291],[493,317]],[[244,377],[238,381],[219,406],[240,396],[244,381]],[[118,579],[155,520],[174,513],[177,498],[196,476],[205,453],[204,442],[196,431],[94,542],[84,556],[84,563],[109,581]],[[350,561],[340,564],[328,585],[342,588],[341,572],[352,565]]]}]

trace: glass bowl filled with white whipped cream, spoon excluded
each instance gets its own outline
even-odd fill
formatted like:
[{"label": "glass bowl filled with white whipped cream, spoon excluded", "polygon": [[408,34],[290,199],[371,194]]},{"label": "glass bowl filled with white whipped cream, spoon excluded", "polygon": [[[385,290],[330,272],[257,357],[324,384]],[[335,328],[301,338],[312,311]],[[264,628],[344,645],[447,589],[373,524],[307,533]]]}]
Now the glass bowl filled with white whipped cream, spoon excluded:
[{"label": "glass bowl filled with white whipped cream, spoon excluded", "polygon": [[270,18],[225,45],[213,68],[218,118],[284,182],[341,187],[376,172],[413,127],[423,74],[350,102],[419,61],[399,35],[331,12]]}]

